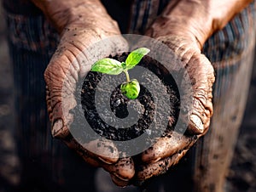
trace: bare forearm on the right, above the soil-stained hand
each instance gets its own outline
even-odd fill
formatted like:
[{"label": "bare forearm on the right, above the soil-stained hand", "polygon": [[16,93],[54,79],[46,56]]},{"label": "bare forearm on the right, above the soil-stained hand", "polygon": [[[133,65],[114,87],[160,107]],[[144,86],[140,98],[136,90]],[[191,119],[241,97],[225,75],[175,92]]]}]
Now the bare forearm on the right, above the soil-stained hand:
[{"label": "bare forearm on the right, above the soil-stained hand", "polygon": [[213,32],[222,29],[250,2],[252,0],[174,0],[146,35],[189,37],[202,48]]}]

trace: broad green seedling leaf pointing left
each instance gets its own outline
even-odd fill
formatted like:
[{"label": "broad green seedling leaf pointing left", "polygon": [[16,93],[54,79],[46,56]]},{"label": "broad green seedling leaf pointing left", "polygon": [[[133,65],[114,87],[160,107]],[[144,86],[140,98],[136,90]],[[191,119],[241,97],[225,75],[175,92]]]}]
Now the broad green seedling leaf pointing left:
[{"label": "broad green seedling leaf pointing left", "polygon": [[119,75],[123,71],[123,67],[118,60],[105,58],[96,61],[90,71],[106,73],[108,75]]}]

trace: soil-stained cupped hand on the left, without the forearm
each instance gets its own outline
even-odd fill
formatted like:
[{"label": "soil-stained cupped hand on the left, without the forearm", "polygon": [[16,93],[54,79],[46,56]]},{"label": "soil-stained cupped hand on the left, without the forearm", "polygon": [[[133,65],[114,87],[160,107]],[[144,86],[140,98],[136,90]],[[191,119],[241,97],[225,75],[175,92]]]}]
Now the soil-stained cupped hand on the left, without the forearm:
[{"label": "soil-stained cupped hand on the left, without the forearm", "polygon": [[[125,186],[135,172],[131,157],[119,159],[117,148],[104,139],[90,141],[87,145],[93,150],[85,149],[69,131],[73,123],[70,110],[77,105],[74,94],[76,83],[86,76],[92,65],[90,59],[93,55],[88,54],[91,52],[87,49],[114,35],[119,35],[119,28],[108,15],[93,20],[90,25],[85,25],[83,20],[69,23],[61,31],[61,42],[44,72],[44,78],[53,137],[60,138],[90,165],[103,167],[111,174],[115,184]],[[118,49],[125,50],[127,44],[123,38],[117,37],[113,41],[96,50],[99,57],[116,54]]]}]

